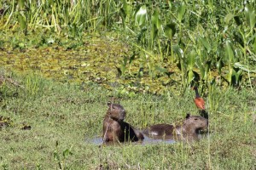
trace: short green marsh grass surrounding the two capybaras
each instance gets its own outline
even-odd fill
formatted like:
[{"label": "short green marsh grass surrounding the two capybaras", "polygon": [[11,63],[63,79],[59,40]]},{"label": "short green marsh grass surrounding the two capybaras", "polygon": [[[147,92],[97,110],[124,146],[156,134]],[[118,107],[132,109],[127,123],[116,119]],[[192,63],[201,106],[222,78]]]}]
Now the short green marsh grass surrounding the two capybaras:
[{"label": "short green marsh grass surrounding the two capybaras", "polygon": [[[102,135],[107,102],[117,99],[126,122],[143,128],[159,122],[180,122],[197,115],[194,91],[175,94],[119,96],[96,84],[63,84],[42,77],[9,75],[25,88],[3,83],[0,115],[12,125],[0,130],[2,169],[255,169],[255,91],[218,88],[211,98],[210,135],[194,143],[121,144],[85,142]],[[15,97],[15,93],[18,96]],[[205,97],[207,100],[208,98]],[[208,100],[207,100],[208,101]],[[208,104],[207,104],[208,106]],[[31,130],[20,130],[22,122]]]}]

